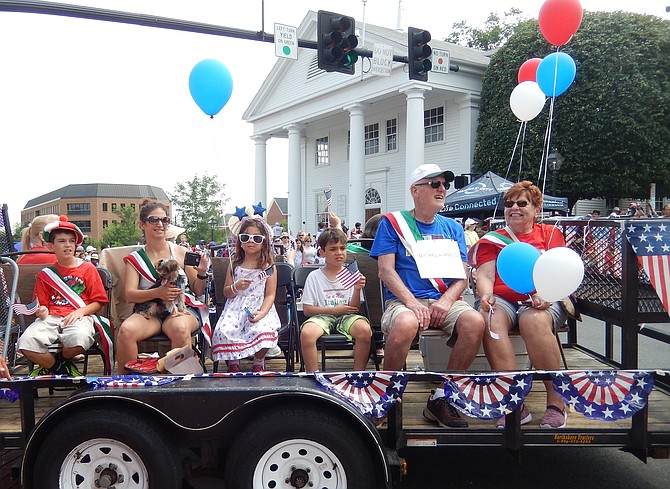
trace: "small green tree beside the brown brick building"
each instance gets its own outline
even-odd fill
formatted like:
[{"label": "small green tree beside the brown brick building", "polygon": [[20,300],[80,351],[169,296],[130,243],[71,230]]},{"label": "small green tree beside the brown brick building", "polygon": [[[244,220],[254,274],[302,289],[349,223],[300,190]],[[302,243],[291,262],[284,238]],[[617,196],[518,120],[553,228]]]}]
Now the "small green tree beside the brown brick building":
[{"label": "small green tree beside the brown brick building", "polygon": [[224,194],[225,185],[218,176],[195,175],[192,180],[178,183],[172,193],[168,193],[178,214],[178,224],[186,229],[191,244],[204,239],[209,241],[214,224],[214,240],[221,241],[224,233],[223,205],[228,202]]}]

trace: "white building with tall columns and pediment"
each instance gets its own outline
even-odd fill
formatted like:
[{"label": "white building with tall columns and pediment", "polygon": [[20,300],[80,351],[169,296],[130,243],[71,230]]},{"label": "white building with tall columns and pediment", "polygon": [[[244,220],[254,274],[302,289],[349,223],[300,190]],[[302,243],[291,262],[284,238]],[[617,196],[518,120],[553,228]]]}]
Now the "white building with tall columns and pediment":
[{"label": "white building with tall columns and pediment", "polygon": [[[298,27],[300,39],[316,40],[316,13]],[[357,22],[359,47],[393,46],[407,55],[407,33]],[[355,75],[317,67],[316,50],[300,48],[298,60],[278,59],[244,113],[253,124],[254,201],[268,202],[267,141],[288,138],[288,222],[291,233],[313,231],[326,216],[325,191],[347,224],[376,213],[409,209],[410,173],[436,163],[454,174],[472,163],[481,78],[489,63],[482,51],[432,40],[447,50],[458,72],[431,72],[427,82],[409,79],[407,65],[391,76],[371,74],[360,58]],[[450,192],[453,192],[453,188]]]}]

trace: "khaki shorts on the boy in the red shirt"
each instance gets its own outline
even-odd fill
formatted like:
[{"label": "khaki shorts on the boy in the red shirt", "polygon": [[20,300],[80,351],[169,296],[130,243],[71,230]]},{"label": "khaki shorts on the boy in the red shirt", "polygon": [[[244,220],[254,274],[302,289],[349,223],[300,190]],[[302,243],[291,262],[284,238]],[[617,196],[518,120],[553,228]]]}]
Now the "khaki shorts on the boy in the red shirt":
[{"label": "khaki shorts on the boy in the red shirt", "polygon": [[44,320],[35,319],[19,338],[17,348],[19,350],[47,353],[49,345],[56,340],[60,341],[65,348],[80,346],[88,350],[95,341],[95,326],[91,316],[84,316],[66,328],[62,327],[63,318],[60,316],[47,316]]}]

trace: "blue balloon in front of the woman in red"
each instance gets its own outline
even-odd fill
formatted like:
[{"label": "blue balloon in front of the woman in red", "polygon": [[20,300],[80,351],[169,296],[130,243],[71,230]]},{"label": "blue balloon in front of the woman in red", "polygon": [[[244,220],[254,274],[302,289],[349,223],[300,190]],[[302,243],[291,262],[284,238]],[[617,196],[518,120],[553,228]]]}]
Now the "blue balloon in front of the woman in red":
[{"label": "blue balloon in front of the woman in red", "polygon": [[496,262],[498,275],[503,282],[519,294],[528,294],[535,290],[533,267],[540,252],[528,243],[519,241],[505,246]]}]

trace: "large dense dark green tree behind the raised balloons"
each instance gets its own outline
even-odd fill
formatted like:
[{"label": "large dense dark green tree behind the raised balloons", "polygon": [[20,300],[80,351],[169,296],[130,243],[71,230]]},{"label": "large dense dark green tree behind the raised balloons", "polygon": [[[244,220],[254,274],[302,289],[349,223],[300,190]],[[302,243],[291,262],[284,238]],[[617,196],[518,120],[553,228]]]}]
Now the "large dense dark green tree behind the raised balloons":
[{"label": "large dense dark green tree behind the raised balloons", "polygon": [[[575,60],[577,75],[555,99],[550,145],[565,157],[557,193],[571,205],[581,198],[644,198],[651,182],[665,190],[662,195],[670,194],[668,48],[670,22],[624,12],[585,12],[579,31],[563,47]],[[482,82],[476,171],[507,174],[520,124],[509,107],[518,68],[554,49],[530,20],[491,57]],[[528,123],[510,180],[538,182],[549,106]]]}]

